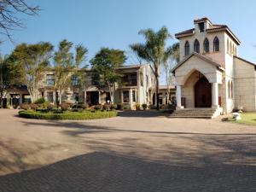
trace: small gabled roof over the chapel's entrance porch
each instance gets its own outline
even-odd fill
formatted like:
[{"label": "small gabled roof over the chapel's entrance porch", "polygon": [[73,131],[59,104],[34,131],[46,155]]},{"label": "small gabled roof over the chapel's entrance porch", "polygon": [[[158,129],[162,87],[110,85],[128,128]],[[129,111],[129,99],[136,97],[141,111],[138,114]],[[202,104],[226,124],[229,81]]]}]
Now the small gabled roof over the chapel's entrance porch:
[{"label": "small gabled roof over the chapel's entrance porch", "polygon": [[224,64],[221,65],[219,64],[218,62],[216,61],[213,61],[212,58],[210,57],[207,57],[206,55],[201,55],[201,54],[198,54],[196,52],[193,52],[192,54],[190,54],[189,56],[187,56],[185,59],[183,59],[183,61],[180,61],[177,66],[173,67],[171,72],[175,72],[175,70],[178,68],[178,67],[181,67],[183,65],[184,62],[188,61],[192,56],[196,56],[198,58],[200,58],[201,60],[204,60],[204,61],[207,61],[209,63],[211,63],[213,66],[216,66],[218,67],[219,69],[223,70],[224,71]]}]

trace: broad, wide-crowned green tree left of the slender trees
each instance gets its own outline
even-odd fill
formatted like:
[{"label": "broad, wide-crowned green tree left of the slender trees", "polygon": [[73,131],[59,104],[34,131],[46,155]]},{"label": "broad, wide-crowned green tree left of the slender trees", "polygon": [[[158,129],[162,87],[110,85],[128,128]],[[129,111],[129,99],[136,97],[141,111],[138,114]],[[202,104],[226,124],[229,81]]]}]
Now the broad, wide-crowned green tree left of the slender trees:
[{"label": "broad, wide-crowned green tree left of the slender trees", "polygon": [[25,84],[32,102],[38,99],[38,88],[44,78],[45,68],[53,45],[49,43],[20,44],[7,59],[11,84]]}]

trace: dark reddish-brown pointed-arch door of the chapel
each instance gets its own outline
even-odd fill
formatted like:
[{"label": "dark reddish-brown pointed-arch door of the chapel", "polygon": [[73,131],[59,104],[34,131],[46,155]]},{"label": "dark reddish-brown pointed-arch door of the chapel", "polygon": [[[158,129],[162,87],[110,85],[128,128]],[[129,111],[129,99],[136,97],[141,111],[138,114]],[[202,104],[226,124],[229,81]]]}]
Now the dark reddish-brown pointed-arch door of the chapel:
[{"label": "dark reddish-brown pointed-arch door of the chapel", "polygon": [[205,76],[195,83],[194,90],[195,108],[212,108],[212,84]]}]

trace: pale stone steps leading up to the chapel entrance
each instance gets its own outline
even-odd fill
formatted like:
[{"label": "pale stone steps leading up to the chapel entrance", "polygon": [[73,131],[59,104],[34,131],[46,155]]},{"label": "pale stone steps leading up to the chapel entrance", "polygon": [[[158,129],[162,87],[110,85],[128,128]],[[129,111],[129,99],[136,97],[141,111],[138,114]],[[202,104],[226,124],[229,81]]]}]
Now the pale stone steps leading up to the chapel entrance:
[{"label": "pale stone steps leading up to the chapel entrance", "polygon": [[170,118],[212,119],[222,113],[222,108],[182,108],[175,110]]}]

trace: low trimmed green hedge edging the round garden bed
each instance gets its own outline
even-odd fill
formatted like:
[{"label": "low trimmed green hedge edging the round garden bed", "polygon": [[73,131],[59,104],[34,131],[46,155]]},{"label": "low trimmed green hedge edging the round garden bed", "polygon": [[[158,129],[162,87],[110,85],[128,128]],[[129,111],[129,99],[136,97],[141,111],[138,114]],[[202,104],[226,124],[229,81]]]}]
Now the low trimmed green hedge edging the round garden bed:
[{"label": "low trimmed green hedge edging the round garden bed", "polygon": [[79,113],[79,112],[67,112],[67,113],[40,113],[32,111],[20,111],[19,116],[27,119],[102,119],[117,116],[116,111],[108,112],[95,112],[95,113]]}]

